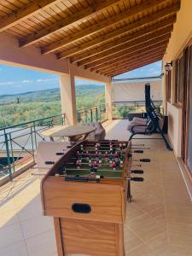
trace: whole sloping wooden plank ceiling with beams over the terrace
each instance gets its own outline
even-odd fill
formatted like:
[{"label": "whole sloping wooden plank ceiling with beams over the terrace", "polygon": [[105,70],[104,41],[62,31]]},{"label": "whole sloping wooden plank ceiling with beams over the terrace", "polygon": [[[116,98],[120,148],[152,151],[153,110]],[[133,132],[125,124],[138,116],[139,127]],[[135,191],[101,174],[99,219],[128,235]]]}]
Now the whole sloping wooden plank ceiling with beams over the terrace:
[{"label": "whole sloping wooden plank ceiling with beams over the terrace", "polygon": [[0,32],[90,72],[114,76],[160,61],[180,0],[1,0]]}]

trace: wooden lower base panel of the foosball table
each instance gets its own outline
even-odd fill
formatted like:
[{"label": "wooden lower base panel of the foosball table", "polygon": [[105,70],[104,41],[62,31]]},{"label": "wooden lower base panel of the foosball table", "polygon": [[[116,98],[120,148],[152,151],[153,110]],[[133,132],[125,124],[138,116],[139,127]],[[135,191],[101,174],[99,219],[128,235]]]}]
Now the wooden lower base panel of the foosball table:
[{"label": "wooden lower base panel of the foosball table", "polygon": [[[66,254],[124,256],[123,229],[117,224],[61,218],[61,236]],[[122,226],[122,224],[119,224]],[[118,231],[118,232],[117,232]],[[121,241],[120,241],[121,240]],[[118,248],[117,248],[118,241]]]}]

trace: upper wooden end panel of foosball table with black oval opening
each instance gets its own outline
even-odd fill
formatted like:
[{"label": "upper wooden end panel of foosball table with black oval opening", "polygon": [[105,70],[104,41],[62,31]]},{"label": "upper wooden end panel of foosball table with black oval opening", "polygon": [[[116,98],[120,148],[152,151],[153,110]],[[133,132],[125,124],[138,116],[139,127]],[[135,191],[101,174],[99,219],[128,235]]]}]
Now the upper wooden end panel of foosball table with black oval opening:
[{"label": "upper wooden end panel of foosball table with black oval opening", "polygon": [[[121,186],[98,183],[67,183],[47,178],[43,185],[44,214],[122,223]],[[73,203],[90,204],[90,213],[76,213]]]}]

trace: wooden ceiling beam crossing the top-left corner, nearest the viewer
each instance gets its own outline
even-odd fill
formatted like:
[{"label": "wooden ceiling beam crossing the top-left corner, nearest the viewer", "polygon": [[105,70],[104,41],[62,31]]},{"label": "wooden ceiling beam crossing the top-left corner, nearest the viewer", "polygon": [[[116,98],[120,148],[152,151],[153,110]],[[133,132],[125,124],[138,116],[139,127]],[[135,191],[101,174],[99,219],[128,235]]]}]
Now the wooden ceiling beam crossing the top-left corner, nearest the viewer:
[{"label": "wooden ceiling beam crossing the top-left corner, nearest the viewer", "polygon": [[24,7],[15,10],[0,20],[0,32],[5,31],[11,26],[15,26],[20,20],[35,15],[40,9],[47,8],[55,2],[58,2],[58,0],[34,0],[27,3]]}]

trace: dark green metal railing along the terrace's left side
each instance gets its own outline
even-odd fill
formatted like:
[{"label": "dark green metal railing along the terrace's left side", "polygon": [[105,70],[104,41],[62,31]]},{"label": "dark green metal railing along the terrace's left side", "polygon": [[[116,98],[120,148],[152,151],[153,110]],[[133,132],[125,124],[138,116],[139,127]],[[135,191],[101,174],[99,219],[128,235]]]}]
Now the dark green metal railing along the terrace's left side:
[{"label": "dark green metal railing along the terrace's left side", "polygon": [[[107,119],[105,105],[78,110],[78,123]],[[65,125],[64,113],[0,129],[0,179],[11,180],[21,168],[34,164],[34,153],[40,141],[49,140],[41,132],[55,125]]]}]

